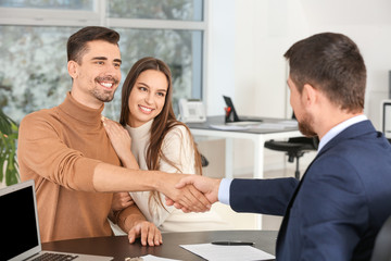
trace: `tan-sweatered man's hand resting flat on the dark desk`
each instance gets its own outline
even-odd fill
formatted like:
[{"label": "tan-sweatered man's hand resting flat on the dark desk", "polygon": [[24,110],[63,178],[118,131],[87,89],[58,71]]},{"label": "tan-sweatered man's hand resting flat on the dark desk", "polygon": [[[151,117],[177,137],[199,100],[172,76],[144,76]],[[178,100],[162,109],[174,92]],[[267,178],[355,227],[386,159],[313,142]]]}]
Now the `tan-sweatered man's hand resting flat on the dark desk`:
[{"label": "tan-sweatered man's hand resting flat on the dark desk", "polygon": [[142,246],[160,246],[163,244],[161,232],[157,227],[148,221],[136,221],[134,226],[128,232],[128,239],[130,244],[134,244],[136,238],[140,237]]}]

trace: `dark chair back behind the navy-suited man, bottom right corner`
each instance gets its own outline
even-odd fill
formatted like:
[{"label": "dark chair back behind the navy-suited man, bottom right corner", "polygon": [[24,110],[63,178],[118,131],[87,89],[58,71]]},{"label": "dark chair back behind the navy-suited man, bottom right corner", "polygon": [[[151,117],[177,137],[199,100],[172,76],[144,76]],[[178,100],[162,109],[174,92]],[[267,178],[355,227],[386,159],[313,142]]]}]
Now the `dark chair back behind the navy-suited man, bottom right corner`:
[{"label": "dark chair back behind the navy-suited man, bottom right corner", "polygon": [[371,261],[391,260],[391,216],[387,219],[376,236]]}]

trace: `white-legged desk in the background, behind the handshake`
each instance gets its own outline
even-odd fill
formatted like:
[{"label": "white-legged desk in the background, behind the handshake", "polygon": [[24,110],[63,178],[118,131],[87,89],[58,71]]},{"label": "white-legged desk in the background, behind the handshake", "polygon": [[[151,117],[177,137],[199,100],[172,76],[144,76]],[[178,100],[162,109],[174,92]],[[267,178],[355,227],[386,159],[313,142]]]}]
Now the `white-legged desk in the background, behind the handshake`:
[{"label": "white-legged desk in the background, behind the handshake", "polygon": [[[263,123],[278,123],[288,119],[267,119],[260,117]],[[250,128],[243,130],[220,130],[210,127],[210,125],[224,125],[224,116],[210,116],[204,123],[187,123],[193,136],[207,136],[226,139],[226,161],[225,176],[234,177],[234,139],[251,139],[254,142],[254,178],[263,177],[264,165],[264,145],[270,139],[287,139],[291,137],[303,136],[298,127],[288,127],[283,129],[272,128]]]}]

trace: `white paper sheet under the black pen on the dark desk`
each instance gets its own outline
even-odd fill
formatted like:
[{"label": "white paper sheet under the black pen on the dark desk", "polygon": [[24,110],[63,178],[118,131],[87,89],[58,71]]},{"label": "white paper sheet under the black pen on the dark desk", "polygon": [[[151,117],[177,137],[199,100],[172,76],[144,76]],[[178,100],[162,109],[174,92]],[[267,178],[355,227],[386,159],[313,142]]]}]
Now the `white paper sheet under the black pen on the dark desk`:
[{"label": "white paper sheet under the black pen on the dark desk", "polygon": [[214,261],[275,259],[275,256],[251,246],[219,246],[212,244],[194,244],[179,246],[201,258]]}]

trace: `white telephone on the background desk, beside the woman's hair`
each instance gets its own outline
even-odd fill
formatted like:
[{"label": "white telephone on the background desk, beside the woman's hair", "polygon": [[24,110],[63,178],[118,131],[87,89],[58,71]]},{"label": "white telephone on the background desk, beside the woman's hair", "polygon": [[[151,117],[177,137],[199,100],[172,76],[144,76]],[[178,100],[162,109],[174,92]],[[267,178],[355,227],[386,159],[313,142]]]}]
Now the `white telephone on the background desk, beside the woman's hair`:
[{"label": "white telephone on the background desk, beside the woman's hair", "polygon": [[201,100],[179,99],[180,121],[184,123],[205,122],[206,112]]}]

